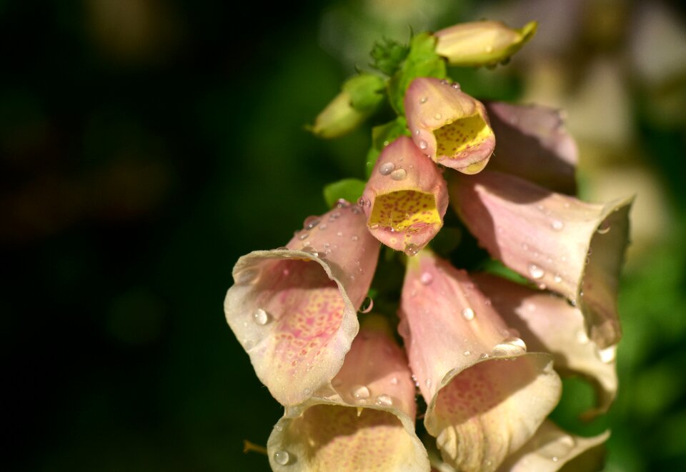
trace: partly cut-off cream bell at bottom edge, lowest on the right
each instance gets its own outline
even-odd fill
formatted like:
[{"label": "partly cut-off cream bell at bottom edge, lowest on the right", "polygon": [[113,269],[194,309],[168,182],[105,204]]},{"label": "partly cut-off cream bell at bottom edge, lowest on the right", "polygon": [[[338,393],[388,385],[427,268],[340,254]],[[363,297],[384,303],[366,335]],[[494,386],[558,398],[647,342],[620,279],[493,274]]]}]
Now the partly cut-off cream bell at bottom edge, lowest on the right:
[{"label": "partly cut-off cream bell at bottom edge, lowest on the right", "polygon": [[570,471],[598,471],[602,468],[602,443],[609,437],[610,431],[592,438],[574,436],[552,421],[545,421],[528,443],[507,458],[499,471],[555,472],[566,464]]}]

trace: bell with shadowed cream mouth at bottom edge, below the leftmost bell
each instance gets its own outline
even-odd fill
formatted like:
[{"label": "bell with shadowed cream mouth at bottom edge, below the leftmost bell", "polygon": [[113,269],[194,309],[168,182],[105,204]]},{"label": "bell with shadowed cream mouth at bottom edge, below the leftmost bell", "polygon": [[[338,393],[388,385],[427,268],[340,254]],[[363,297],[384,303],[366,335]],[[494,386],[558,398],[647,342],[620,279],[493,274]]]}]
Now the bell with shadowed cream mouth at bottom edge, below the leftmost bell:
[{"label": "bell with shadowed cream mouth at bottom edge, below the leftmost bell", "polygon": [[384,318],[366,318],[333,390],[286,408],[274,426],[274,471],[429,471],[407,358]]}]

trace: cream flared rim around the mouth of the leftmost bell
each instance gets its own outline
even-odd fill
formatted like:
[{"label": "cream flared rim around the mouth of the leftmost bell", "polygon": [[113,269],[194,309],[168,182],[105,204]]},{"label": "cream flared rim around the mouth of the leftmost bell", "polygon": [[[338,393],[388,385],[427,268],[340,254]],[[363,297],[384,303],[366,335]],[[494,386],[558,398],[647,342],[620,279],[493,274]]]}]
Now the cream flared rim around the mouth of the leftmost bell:
[{"label": "cream flared rim around the mouth of the leftmost bell", "polygon": [[[232,320],[232,313],[234,313],[235,311],[235,308],[233,308],[232,306],[234,303],[234,297],[240,299],[243,296],[242,293],[236,293],[238,288],[243,286],[239,283],[240,274],[243,271],[250,270],[250,268],[254,266],[255,263],[259,263],[259,261],[274,259],[303,259],[319,263],[319,265],[322,266],[324,272],[327,274],[329,279],[331,279],[337,284],[339,293],[341,294],[344,301],[344,311],[341,320],[341,325],[339,327],[337,334],[335,335],[336,340],[339,343],[341,343],[343,355],[341,355],[339,359],[331,360],[330,365],[332,366],[332,368],[330,368],[331,372],[327,380],[319,382],[319,385],[306,386],[304,389],[293,388],[291,392],[274,391],[272,386],[270,386],[271,382],[269,382],[269,377],[262,373],[261,369],[258,369],[257,367],[257,359],[254,358],[254,354],[259,353],[262,344],[267,342],[267,337],[262,338],[262,340],[258,341],[257,343],[252,342],[252,340],[243,338],[243,336],[240,336],[240,333],[243,332],[241,326],[242,323],[234,323],[234,320]],[[262,383],[264,383],[269,388],[269,391],[272,393],[274,398],[276,398],[279,401],[279,403],[282,403],[283,405],[294,405],[297,403],[302,403],[307,398],[309,398],[309,396],[312,395],[312,392],[317,390],[317,388],[326,384],[327,381],[330,383],[331,378],[333,378],[336,375],[336,373],[340,370],[341,366],[343,365],[344,354],[347,353],[347,351],[349,351],[350,346],[352,344],[352,340],[355,336],[357,336],[357,332],[359,331],[359,322],[357,321],[357,309],[353,306],[352,301],[350,301],[344,283],[342,283],[341,281],[342,270],[334,263],[324,261],[319,256],[316,256],[313,253],[309,253],[307,251],[297,251],[292,249],[272,249],[270,251],[253,251],[239,258],[236,265],[234,266],[233,276],[236,283],[234,284],[234,286],[229,288],[229,291],[227,291],[227,296],[226,298],[224,298],[224,313],[227,318],[227,323],[229,323],[229,326],[231,326],[232,330],[236,334],[239,343],[241,343],[241,346],[250,356],[250,361],[255,368],[255,373],[257,374],[259,380],[262,381]],[[237,304],[240,304],[240,302],[238,302]]]}]

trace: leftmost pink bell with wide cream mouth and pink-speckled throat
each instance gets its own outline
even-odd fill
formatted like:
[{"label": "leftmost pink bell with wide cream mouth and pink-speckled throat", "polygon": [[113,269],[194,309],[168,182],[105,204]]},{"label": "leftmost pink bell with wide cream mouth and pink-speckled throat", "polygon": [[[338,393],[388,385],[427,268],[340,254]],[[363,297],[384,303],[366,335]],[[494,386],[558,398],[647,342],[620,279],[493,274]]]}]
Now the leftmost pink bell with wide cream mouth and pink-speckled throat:
[{"label": "leftmost pink bell with wide cream mouth and pink-speckled throat", "polygon": [[302,403],[338,373],[378,255],[362,209],[342,201],[305,220],[286,247],[239,258],[224,311],[283,405]]}]

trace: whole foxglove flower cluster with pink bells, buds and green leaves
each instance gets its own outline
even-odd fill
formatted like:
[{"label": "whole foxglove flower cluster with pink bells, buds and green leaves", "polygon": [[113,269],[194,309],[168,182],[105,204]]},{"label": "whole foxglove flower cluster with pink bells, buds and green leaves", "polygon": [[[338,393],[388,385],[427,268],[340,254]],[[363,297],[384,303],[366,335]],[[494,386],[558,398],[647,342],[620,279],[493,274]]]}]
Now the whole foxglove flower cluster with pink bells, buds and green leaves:
[{"label": "whole foxglove flower cluster with pink bells, buds and green leaves", "polygon": [[[234,267],[227,321],[285,407],[267,443],[274,470],[554,471],[607,438],[546,418],[560,375],[595,385],[587,418],[615,398],[631,200],[572,196],[577,151],[557,111],[484,104],[445,73],[503,61],[534,31],[482,21],[387,44],[372,56],[389,78],[348,81],[312,126],[339,136],[384,103],[397,112],[374,128],[364,190],[345,190],[359,189],[357,204],[337,200],[286,246]],[[468,273],[427,247],[448,206],[528,283]],[[397,318],[367,314],[382,245],[405,255]],[[417,394],[434,443],[415,432]]]}]

